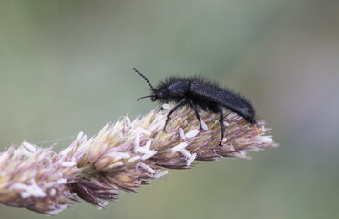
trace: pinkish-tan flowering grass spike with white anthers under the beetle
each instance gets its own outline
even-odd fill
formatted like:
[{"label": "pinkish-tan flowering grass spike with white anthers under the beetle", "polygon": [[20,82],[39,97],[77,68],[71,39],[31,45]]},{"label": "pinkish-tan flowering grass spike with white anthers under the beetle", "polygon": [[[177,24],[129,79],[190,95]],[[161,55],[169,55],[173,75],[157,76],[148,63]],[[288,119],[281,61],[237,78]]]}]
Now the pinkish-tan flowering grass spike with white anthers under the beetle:
[{"label": "pinkish-tan flowering grass spike with white anthers under the beetle", "polygon": [[80,132],[59,153],[28,142],[11,146],[0,153],[0,203],[41,214],[56,214],[79,198],[104,207],[121,191],[135,192],[168,169],[191,168],[195,161],[246,158],[246,151],[276,146],[272,136],[265,135],[269,129],[263,120],[253,126],[229,111],[222,147],[215,113],[200,111],[204,130],[199,130],[194,111],[183,107],[165,132],[170,107],[107,124],[89,139]]}]

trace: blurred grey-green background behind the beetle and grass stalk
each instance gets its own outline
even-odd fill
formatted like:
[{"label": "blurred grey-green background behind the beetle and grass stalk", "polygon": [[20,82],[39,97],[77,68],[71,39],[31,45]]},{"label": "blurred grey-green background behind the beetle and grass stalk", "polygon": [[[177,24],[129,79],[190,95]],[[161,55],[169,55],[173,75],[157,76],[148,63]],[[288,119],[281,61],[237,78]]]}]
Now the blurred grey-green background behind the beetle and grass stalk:
[{"label": "blurred grey-green background behind the beetle and grass stalk", "polygon": [[[148,86],[201,74],[251,99],[277,149],[200,162],[55,218],[339,218],[339,1],[1,1],[0,147],[56,150],[155,107]],[[46,218],[0,205],[1,218]]]}]

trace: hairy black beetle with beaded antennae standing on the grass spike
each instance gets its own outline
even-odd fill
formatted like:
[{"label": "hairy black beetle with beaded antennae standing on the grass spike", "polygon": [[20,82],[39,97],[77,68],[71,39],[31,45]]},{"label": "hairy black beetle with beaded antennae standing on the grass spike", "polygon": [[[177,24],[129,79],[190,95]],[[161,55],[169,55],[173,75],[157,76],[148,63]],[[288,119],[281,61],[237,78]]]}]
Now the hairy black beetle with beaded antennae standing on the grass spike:
[{"label": "hairy black beetle with beaded antennae standing on the grass spike", "polygon": [[[231,110],[238,115],[240,115],[244,120],[251,124],[255,124],[255,110],[252,104],[241,95],[221,87],[215,82],[207,78],[201,78],[198,76],[193,77],[169,77],[164,81],[160,82],[157,87],[153,87],[149,82],[149,79],[146,78],[139,70],[133,68],[133,70],[139,74],[142,78],[146,80],[151,89],[151,94],[141,97],[139,99],[150,98],[154,101],[169,102],[173,101],[176,105],[170,112],[167,114],[167,120],[165,122],[164,131],[166,131],[166,126],[171,120],[170,115],[177,110],[180,106],[190,105],[194,110],[197,119],[199,120],[200,130],[202,130],[201,119],[199,115],[199,106],[202,110],[211,110],[214,113],[220,114],[221,123],[221,141],[219,145],[221,146],[225,127],[223,124],[223,109],[226,108]],[[138,100],[139,100],[138,99]]]}]

